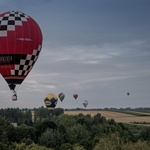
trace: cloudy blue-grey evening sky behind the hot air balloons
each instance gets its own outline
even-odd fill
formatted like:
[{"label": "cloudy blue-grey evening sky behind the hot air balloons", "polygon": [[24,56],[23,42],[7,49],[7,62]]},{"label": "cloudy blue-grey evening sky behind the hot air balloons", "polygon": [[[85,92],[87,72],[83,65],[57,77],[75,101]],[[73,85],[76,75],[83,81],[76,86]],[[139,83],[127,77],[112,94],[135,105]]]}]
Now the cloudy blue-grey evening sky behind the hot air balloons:
[{"label": "cloudy blue-grey evening sky behind the hot air balloons", "polygon": [[43,45],[16,102],[0,76],[0,108],[45,107],[60,92],[56,108],[150,107],[149,0],[0,0],[12,10],[38,23]]}]

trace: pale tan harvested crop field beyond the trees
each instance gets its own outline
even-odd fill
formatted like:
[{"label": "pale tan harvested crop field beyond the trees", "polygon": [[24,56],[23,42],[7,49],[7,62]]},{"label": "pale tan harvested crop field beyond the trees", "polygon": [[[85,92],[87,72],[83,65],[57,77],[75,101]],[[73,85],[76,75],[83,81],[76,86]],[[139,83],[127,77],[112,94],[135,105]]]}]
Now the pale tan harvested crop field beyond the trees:
[{"label": "pale tan harvested crop field beyond the trees", "polygon": [[106,119],[114,119],[115,122],[121,123],[146,123],[150,124],[150,112],[137,112],[137,111],[107,111],[107,110],[69,110],[65,111],[68,115],[84,115],[90,114],[91,116],[100,113]]}]

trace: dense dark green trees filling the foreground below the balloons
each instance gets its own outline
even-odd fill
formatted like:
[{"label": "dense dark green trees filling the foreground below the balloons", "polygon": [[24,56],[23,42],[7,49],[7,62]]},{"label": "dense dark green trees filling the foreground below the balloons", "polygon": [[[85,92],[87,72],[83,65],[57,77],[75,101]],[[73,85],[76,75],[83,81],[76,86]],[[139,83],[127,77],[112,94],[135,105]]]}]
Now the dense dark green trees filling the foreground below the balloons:
[{"label": "dense dark green trees filling the foreground below the balloons", "polygon": [[[34,110],[34,118],[32,112]],[[0,109],[2,150],[149,150],[150,127],[57,108]],[[11,123],[17,123],[13,126]]]}]

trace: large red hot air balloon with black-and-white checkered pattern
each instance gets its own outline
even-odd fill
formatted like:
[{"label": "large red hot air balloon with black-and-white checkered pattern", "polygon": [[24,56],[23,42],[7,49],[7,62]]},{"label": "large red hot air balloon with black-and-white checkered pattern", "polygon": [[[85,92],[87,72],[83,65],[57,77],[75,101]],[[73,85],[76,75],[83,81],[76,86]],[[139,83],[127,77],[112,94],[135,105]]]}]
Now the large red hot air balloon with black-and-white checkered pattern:
[{"label": "large red hot air balloon with black-and-white checkered pattern", "polygon": [[16,85],[27,77],[41,48],[42,32],[34,19],[19,11],[0,14],[0,73],[14,95]]}]

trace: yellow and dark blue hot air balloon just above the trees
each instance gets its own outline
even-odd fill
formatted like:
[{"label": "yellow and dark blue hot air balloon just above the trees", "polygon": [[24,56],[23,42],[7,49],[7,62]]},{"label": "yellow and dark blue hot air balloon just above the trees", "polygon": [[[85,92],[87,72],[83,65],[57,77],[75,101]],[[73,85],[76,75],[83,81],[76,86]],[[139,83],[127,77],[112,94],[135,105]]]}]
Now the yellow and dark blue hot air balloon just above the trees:
[{"label": "yellow and dark blue hot air balloon just above the trees", "polygon": [[49,93],[44,99],[44,103],[50,112],[55,109],[57,105],[57,101],[58,101],[58,98],[53,93]]}]

